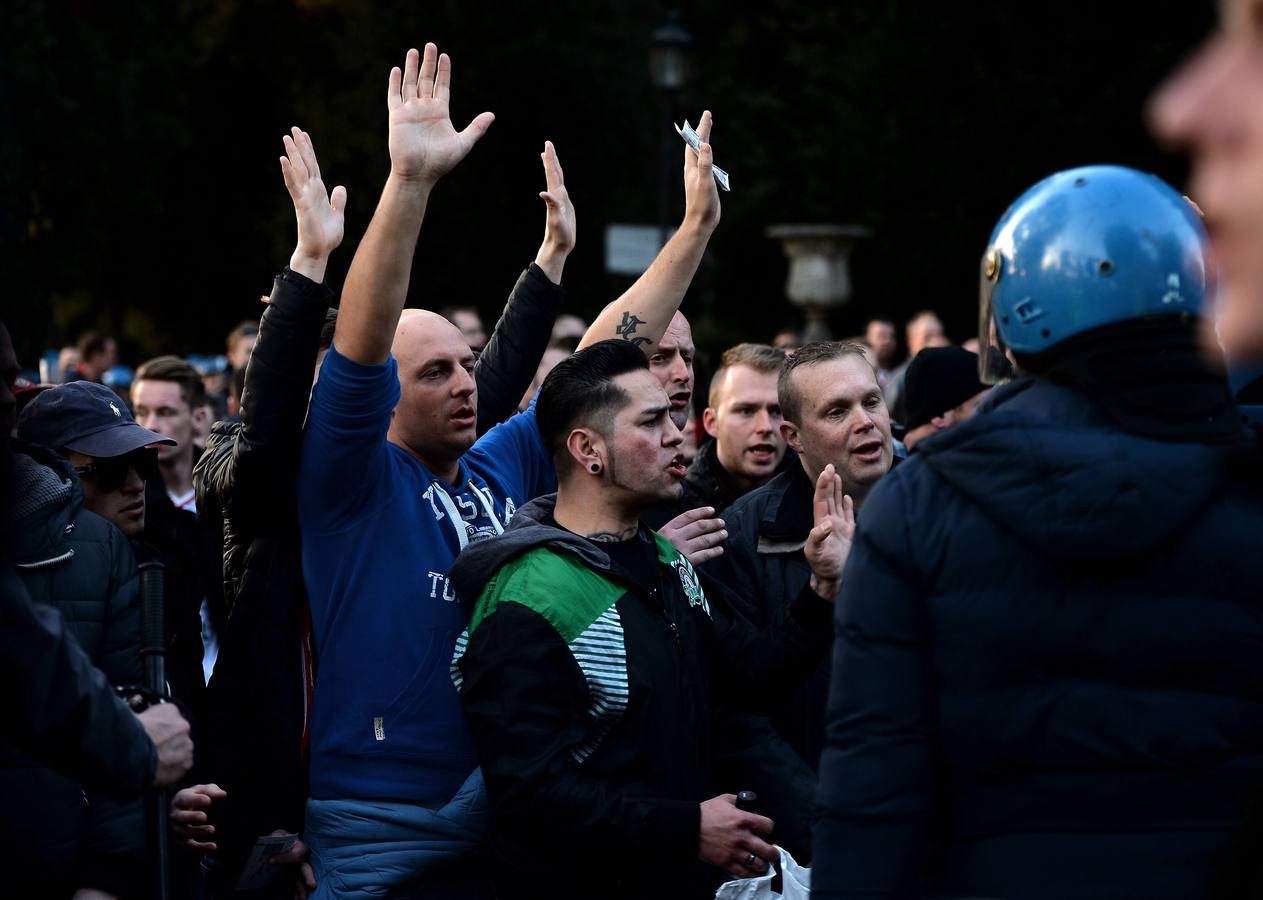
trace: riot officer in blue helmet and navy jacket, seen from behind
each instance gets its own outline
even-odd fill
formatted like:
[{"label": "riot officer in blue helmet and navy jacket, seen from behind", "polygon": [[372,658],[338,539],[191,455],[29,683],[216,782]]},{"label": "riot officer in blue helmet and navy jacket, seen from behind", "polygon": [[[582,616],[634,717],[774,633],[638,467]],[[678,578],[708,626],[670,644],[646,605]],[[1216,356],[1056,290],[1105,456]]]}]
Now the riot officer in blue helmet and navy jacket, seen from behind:
[{"label": "riot officer in blue helmet and navy jacket, seen from behind", "polygon": [[980,358],[1019,375],[865,505],[812,896],[1209,892],[1263,771],[1263,495],[1209,283],[1192,206],[1132,169],[1000,218]]}]

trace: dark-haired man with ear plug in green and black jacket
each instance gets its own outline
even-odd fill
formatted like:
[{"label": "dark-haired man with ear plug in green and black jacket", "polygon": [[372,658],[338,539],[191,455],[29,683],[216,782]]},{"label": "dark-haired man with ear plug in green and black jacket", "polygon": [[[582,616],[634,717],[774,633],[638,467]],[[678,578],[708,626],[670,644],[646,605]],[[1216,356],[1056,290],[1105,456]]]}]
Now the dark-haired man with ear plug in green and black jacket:
[{"label": "dark-haired man with ear plug in green and black jacket", "polygon": [[626,342],[560,362],[537,406],[557,494],[452,569],[472,612],[452,678],[486,776],[500,897],[710,897],[698,862],[751,877],[778,858],[773,822],[735,807],[740,786],[714,794],[711,706],[774,703],[825,651],[847,539],[840,482],[830,468],[817,485],[811,586],[757,631],[639,521],[685,477],[671,412]]}]

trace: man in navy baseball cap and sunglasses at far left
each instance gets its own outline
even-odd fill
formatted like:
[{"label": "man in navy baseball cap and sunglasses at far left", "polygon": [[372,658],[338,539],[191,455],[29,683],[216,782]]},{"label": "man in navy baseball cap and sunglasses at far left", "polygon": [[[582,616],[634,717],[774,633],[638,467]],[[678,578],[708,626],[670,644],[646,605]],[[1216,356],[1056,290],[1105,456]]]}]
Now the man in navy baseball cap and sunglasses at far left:
[{"label": "man in navy baseball cap and sunglasses at far left", "polygon": [[[126,536],[102,515],[143,526],[144,476],[157,476],[153,451],[145,447],[163,441],[125,409],[102,385],[59,385],[23,410],[18,433],[80,465],[37,444],[19,446],[15,456],[11,549],[18,574],[32,600],[62,612],[80,646],[114,685],[141,682],[139,582]],[[139,802],[117,804],[86,794],[21,756],[5,759],[3,766],[6,814],[0,843],[25,861],[23,871],[38,860],[69,891],[95,887],[134,896],[143,890]]]}]

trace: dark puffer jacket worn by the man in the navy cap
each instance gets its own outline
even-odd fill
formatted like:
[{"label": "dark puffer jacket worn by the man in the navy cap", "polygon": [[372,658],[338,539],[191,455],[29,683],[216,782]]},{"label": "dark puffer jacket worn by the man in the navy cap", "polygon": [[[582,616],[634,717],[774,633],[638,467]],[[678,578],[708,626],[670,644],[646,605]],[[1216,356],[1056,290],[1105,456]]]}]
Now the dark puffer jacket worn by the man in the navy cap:
[{"label": "dark puffer jacket worn by the man in the navy cap", "polygon": [[[112,684],[138,684],[140,602],[126,538],[83,509],[83,487],[57,453],[16,456],[13,558],[32,600],[61,611],[92,663]],[[20,754],[0,759],[0,846],[24,867],[47,868],[62,887],[131,895],[143,884],[139,800],[85,793]]]}]

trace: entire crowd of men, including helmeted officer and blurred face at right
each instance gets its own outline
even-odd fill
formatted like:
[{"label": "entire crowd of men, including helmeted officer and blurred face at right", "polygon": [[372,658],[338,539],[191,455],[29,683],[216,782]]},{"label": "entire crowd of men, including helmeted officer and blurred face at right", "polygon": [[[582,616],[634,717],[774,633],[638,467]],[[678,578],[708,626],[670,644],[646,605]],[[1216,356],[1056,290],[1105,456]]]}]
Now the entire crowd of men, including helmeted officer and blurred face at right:
[{"label": "entire crowd of men, including helmeted officer and blurred face at right", "polygon": [[346,191],[294,127],[296,249],[226,366],[90,333],[37,384],[0,326],[6,886],[710,897],[792,855],[821,897],[1258,894],[1259,9],[1151,110],[1196,203],[1038,182],[962,346],[925,311],[903,357],[874,319],[700,386],[710,112],[591,324],[551,143],[494,328],[405,308],[494,120],[453,126],[433,44],[340,297]]}]

